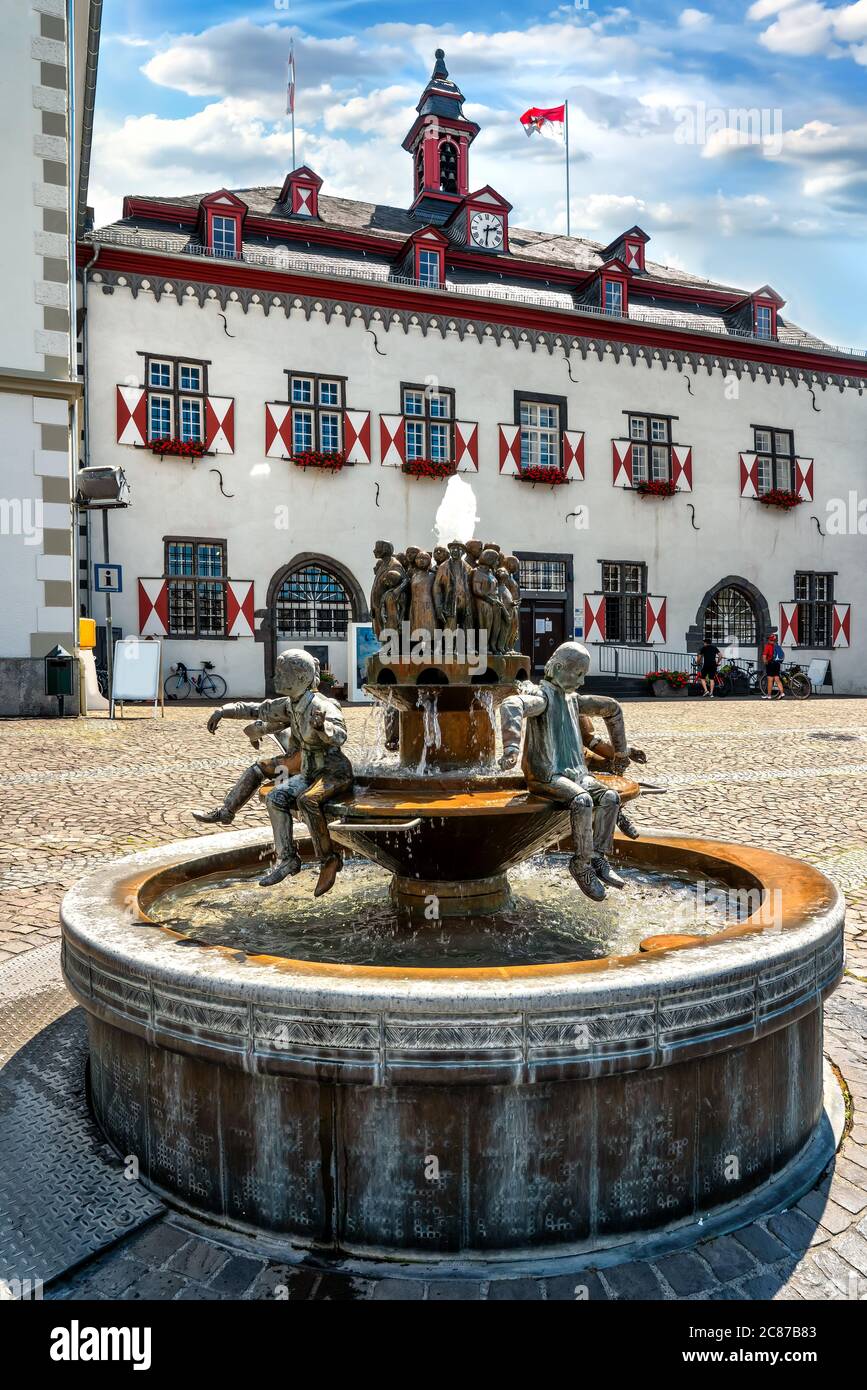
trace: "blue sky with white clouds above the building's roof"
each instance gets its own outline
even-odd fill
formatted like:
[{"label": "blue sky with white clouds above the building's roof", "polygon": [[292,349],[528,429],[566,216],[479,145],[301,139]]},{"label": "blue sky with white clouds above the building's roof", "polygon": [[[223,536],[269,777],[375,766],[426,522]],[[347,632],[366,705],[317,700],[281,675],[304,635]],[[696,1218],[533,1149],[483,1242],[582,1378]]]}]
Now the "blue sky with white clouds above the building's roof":
[{"label": "blue sky with white clouds above the building's roof", "polygon": [[471,186],[513,225],[565,229],[561,149],[528,140],[528,106],[570,100],[572,232],[639,222],[653,260],[771,284],[785,313],[867,348],[867,0],[641,6],[440,0],[438,24],[371,0],[106,0],[90,202],[281,183],[290,165],[286,54],[297,58],[299,163],[324,192],[406,207],[400,140],[443,47],[482,126]]}]

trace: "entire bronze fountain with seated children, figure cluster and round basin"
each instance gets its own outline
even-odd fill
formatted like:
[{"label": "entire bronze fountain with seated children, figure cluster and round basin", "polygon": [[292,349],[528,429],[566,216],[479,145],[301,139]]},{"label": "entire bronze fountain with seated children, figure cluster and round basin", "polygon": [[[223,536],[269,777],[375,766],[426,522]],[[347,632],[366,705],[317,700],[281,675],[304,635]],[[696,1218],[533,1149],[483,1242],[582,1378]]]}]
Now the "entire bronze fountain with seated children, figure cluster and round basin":
[{"label": "entire bronze fountain with seated children, figure cluster and round basin", "polygon": [[[299,771],[283,739],[208,817],[261,788],[282,881],[256,881],[264,831],[222,830],[67,894],[106,1136],[183,1211],[365,1261],[627,1258],[796,1200],[834,1147],[839,892],[771,851],[629,838],[628,819],[611,842],[643,755],[614,701],[579,694],[582,649],[532,685],[499,548],[418,555],[379,542],[371,595],[393,770],[346,780],[340,710],[297,653],[285,702],[224,712],[256,716],[256,744],[279,726],[321,745]],[[585,739],[606,720],[596,753],[578,714]]]}]

